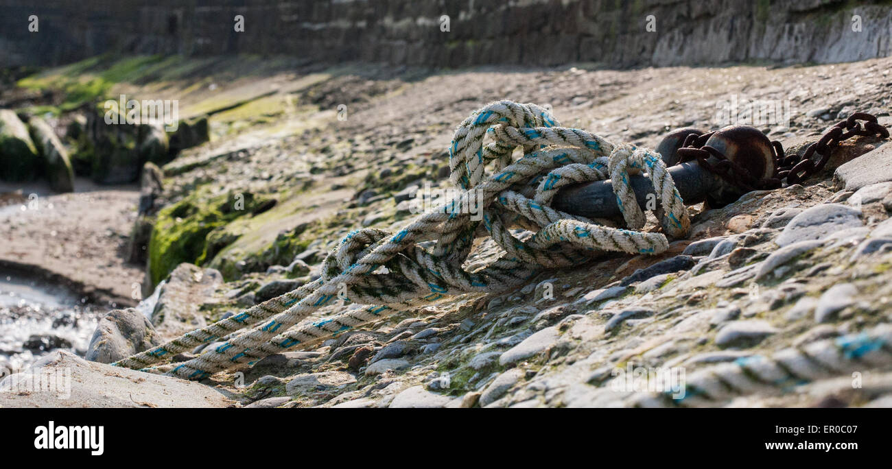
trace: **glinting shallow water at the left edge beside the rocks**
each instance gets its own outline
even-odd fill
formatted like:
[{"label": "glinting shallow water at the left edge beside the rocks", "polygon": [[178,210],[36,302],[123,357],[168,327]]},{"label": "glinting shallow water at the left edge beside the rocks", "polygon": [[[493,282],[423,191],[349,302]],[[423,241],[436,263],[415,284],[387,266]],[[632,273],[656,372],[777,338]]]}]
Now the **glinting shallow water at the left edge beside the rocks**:
[{"label": "glinting shallow water at the left edge beside the rocks", "polygon": [[61,285],[0,272],[0,373],[27,368],[53,350],[83,355],[97,312]]}]

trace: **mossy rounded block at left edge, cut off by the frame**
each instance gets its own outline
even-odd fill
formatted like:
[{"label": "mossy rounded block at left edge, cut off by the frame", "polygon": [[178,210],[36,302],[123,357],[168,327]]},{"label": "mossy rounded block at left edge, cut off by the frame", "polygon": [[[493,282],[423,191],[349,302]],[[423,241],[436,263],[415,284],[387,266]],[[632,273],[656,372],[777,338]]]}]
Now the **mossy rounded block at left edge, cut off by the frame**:
[{"label": "mossy rounded block at left edge, cut off by the frame", "polygon": [[0,110],[0,179],[29,181],[40,169],[37,147],[28,128],[8,109]]}]

